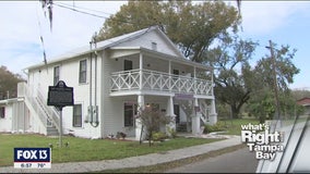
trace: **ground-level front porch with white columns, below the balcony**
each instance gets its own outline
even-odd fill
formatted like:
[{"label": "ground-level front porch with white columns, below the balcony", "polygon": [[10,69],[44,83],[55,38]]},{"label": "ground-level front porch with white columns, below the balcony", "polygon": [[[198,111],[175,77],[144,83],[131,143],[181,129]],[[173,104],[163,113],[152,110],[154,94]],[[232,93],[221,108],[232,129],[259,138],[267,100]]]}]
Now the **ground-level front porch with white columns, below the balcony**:
[{"label": "ground-level front porch with white columns, below the balcony", "polygon": [[[139,92],[139,91],[136,91]],[[153,92],[153,91],[152,91]],[[142,94],[142,92],[141,92]],[[139,114],[139,108],[155,107],[164,115],[170,119],[170,123],[167,125],[160,125],[160,132],[168,132],[168,127],[177,130],[177,127],[181,124],[186,124],[186,132],[193,135],[201,134],[201,126],[204,124],[216,123],[215,103],[214,99],[199,99],[193,95],[179,95],[175,94],[168,96],[150,95],[144,92],[143,95],[126,95],[126,96],[112,96],[111,100],[115,101],[115,105],[110,109],[114,110],[114,115],[117,116],[119,127],[114,133],[122,130],[128,136],[140,139],[142,125],[140,120],[135,116]],[[121,110],[120,110],[121,109]]]}]

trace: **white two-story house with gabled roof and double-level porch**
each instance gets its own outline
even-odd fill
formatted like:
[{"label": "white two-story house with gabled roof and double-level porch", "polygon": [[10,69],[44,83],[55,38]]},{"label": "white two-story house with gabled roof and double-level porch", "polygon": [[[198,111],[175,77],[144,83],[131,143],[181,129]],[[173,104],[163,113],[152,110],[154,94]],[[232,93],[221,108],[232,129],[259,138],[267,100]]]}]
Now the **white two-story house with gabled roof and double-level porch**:
[{"label": "white two-story house with gabled roof and double-level porch", "polygon": [[25,72],[27,83],[19,84],[25,132],[61,128],[59,111],[47,105],[48,86],[58,80],[74,91],[74,105],[62,110],[64,134],[105,138],[123,132],[139,139],[138,107],[151,104],[172,119],[170,127],[186,124],[193,134],[217,121],[213,69],[187,60],[157,26],[91,42]]}]

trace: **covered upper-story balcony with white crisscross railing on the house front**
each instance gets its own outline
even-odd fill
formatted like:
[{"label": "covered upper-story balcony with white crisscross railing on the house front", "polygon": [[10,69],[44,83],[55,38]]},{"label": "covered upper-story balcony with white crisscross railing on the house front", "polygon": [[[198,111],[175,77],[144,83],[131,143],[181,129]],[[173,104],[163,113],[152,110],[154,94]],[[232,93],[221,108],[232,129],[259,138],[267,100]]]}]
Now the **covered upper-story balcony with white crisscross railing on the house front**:
[{"label": "covered upper-story balcony with white crisscross railing on the house front", "polygon": [[212,67],[143,48],[109,51],[110,96],[214,98]]}]

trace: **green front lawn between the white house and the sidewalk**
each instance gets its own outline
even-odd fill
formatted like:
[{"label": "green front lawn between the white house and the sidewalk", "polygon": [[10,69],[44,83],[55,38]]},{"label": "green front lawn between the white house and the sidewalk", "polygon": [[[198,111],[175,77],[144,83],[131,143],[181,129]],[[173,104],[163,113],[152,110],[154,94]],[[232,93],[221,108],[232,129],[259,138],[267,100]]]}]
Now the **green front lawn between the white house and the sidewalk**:
[{"label": "green front lawn between the white house and the sidewalk", "polygon": [[139,141],[116,139],[92,140],[63,136],[62,142],[69,142],[69,146],[63,146],[62,148],[58,147],[58,138],[50,138],[41,135],[0,134],[0,166],[13,165],[13,149],[15,147],[49,147],[49,144],[52,144],[51,161],[52,163],[60,163],[122,159],[146,153],[164,152],[194,145],[208,144],[220,139],[177,137],[164,142],[155,142],[152,147],[148,147],[148,144],[140,145]]}]

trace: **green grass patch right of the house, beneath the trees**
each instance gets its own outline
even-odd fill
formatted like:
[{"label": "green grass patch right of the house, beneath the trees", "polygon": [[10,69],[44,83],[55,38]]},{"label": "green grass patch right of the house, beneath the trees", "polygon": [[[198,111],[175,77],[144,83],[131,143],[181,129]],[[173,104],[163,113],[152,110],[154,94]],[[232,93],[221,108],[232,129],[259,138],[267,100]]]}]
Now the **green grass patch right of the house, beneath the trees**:
[{"label": "green grass patch right of the house, beneath the trees", "polygon": [[234,119],[234,120],[225,120],[218,121],[220,125],[224,125],[223,133],[225,135],[240,135],[241,134],[241,125],[246,124],[260,124],[260,121],[257,119]]}]

